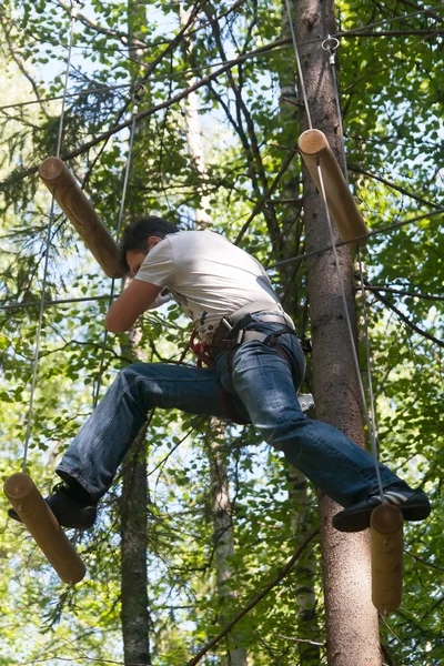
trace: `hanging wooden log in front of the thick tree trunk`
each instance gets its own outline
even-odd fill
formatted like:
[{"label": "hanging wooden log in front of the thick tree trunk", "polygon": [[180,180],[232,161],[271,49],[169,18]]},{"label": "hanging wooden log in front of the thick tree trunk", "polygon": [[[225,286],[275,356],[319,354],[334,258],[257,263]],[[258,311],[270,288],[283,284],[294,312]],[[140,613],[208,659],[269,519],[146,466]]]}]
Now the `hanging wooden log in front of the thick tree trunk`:
[{"label": "hanging wooden log in front of the thick tree trunk", "polygon": [[[321,165],[329,211],[342,240],[352,241],[369,233],[325,134],[320,130],[306,130],[299,138],[299,149],[320,192],[317,162]],[[366,239],[361,239],[356,243],[363,245]]]}]

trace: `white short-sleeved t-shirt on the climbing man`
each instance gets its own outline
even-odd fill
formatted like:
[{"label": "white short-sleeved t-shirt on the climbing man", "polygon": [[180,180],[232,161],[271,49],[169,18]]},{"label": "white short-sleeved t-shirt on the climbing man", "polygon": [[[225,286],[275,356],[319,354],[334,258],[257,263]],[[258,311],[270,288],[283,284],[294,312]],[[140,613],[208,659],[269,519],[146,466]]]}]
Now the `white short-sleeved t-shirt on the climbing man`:
[{"label": "white short-sleeved t-shirt on the climbing man", "polygon": [[281,309],[259,261],[212,231],[167,235],[147,254],[135,280],[167,286],[201,337],[249,303]]}]

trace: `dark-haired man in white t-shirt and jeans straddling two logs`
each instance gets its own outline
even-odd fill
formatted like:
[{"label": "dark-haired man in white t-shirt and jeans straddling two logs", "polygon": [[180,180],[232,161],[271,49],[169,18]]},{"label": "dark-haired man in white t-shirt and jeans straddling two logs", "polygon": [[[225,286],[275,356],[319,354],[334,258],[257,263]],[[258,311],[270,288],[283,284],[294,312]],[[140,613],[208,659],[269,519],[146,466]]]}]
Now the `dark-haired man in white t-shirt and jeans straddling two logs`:
[{"label": "dark-haired man in white t-shirt and jeans straddling two logs", "polygon": [[[305,370],[294,324],[282,310],[261,264],[210,231],[179,231],[161,218],[133,222],[122,262],[134,280],[112,304],[109,331],[128,331],[168,289],[209,343],[212,369],[134,363],[120,372],[67,450],[62,484],[47,498],[65,527],[89,528],[97,504],[152,407],[242,418],[345,508],[342,532],[369,527],[381,494],[373,457],[340,431],[307,418],[296,392]],[[384,501],[406,521],[430,514],[427,496],[379,464]],[[19,516],[13,509],[10,515]]]}]

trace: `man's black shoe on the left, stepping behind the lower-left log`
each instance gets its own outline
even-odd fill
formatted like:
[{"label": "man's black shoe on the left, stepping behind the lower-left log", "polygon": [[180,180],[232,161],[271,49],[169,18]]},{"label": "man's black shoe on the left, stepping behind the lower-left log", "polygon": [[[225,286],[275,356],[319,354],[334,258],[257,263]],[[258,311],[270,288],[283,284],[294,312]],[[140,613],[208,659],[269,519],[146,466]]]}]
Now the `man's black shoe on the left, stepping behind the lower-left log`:
[{"label": "man's black shoe on the left, stepping behind the lower-left log", "polygon": [[[70,496],[70,488],[64,483],[59,483],[52,488],[46,503],[54,514],[62,527],[73,527],[75,529],[89,529],[93,526],[97,517],[97,503],[74,500]],[[8,515],[21,523],[19,514],[10,508]]]}]

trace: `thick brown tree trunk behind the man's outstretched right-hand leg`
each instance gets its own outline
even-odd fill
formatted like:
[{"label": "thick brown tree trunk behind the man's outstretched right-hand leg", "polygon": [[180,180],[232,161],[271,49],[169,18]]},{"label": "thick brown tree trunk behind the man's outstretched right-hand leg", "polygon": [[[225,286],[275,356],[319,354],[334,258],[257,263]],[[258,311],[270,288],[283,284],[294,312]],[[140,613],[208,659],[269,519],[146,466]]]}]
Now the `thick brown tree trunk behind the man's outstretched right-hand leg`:
[{"label": "thick brown tree trunk behind the man's outstretched right-hand leg", "polygon": [[[334,33],[334,3],[331,0],[295,0],[295,17],[297,43]],[[329,53],[320,42],[301,47],[300,53],[313,127],[326,134],[342,164]],[[301,127],[307,129],[304,111],[301,111]],[[331,241],[322,199],[305,170],[303,186],[306,250],[311,252]],[[339,256],[349,311],[356,326],[350,250],[342,248]],[[362,405],[332,252],[307,261],[307,279],[317,417],[339,427],[362,446]],[[329,664],[377,666],[381,665],[381,653],[377,616],[371,602],[369,535],[366,532],[344,535],[334,531],[332,516],[336,508],[331,500],[321,497]]]}]

